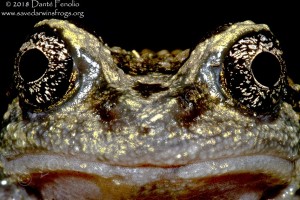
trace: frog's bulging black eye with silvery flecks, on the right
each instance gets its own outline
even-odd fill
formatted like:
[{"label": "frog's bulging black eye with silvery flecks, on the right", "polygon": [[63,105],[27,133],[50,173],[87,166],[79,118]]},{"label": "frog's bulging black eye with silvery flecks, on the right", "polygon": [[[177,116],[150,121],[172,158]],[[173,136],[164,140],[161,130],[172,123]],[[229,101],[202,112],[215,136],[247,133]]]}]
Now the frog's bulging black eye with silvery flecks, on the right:
[{"label": "frog's bulging black eye with silvery flecks, on the right", "polygon": [[246,35],[229,49],[221,78],[225,90],[242,107],[272,113],[286,85],[279,42],[269,32]]}]

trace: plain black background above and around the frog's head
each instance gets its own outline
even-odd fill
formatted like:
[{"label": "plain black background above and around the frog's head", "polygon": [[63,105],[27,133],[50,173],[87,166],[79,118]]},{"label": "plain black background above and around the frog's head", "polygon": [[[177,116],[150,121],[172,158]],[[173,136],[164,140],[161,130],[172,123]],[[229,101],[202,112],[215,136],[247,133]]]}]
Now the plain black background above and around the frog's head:
[{"label": "plain black background above and around the frog's head", "polygon": [[[73,0],[74,1],[74,0]],[[0,2],[0,11],[32,11],[32,8],[6,7]],[[11,0],[11,2],[16,2]],[[31,2],[31,0],[23,1]],[[39,2],[47,2],[40,0]],[[54,0],[48,0],[54,2]],[[72,2],[72,0],[61,0]],[[121,46],[126,50],[149,48],[187,49],[192,48],[216,27],[244,20],[268,24],[277,36],[284,51],[288,75],[300,82],[299,74],[299,31],[298,6],[284,1],[280,3],[262,1],[200,2],[200,1],[128,1],[104,3],[77,0],[79,7],[67,7],[60,11],[84,12],[84,17],[69,17],[92,33],[102,37],[109,46]],[[277,1],[275,1],[277,2]],[[296,4],[296,3],[295,3]],[[37,8],[38,11],[53,8]],[[298,9],[299,10],[299,9]],[[8,83],[13,69],[14,56],[33,25],[44,18],[36,16],[0,16],[0,114],[6,109]],[[64,19],[63,17],[55,17]]]}]

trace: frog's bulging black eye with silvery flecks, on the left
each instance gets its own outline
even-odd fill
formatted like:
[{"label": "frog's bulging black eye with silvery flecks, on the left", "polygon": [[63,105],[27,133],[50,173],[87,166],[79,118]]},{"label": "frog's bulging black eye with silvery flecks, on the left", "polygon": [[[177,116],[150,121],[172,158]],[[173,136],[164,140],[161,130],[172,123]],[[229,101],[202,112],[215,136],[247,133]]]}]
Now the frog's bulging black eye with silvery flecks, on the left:
[{"label": "frog's bulging black eye with silvery flecks, on the left", "polygon": [[73,60],[65,42],[54,32],[36,32],[23,43],[14,66],[14,82],[22,103],[47,108],[67,93]]}]

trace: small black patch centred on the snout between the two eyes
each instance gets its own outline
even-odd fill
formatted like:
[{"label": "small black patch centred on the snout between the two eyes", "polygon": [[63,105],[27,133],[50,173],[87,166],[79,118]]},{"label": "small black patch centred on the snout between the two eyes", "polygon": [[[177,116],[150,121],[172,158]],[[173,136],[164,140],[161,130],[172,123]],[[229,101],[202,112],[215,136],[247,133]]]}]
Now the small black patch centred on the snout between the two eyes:
[{"label": "small black patch centred on the snout between the two eyes", "polygon": [[132,89],[138,91],[142,97],[148,98],[153,93],[162,92],[168,90],[169,88],[163,87],[161,84],[144,84],[138,82]]}]

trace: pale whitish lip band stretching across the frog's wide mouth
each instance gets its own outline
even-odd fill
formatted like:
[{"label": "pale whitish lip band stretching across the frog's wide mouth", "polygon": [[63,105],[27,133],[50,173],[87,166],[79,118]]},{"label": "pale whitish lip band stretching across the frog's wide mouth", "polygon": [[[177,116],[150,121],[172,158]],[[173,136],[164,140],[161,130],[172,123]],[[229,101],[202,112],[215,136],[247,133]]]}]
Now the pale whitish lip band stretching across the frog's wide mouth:
[{"label": "pale whitish lip band stretching across the frog's wide mouth", "polygon": [[270,155],[222,158],[177,167],[124,167],[48,154],[23,155],[2,162],[5,170],[12,174],[76,171],[104,178],[122,177],[124,182],[138,185],[161,179],[200,179],[238,173],[267,174],[289,182],[295,168],[292,161]]}]

